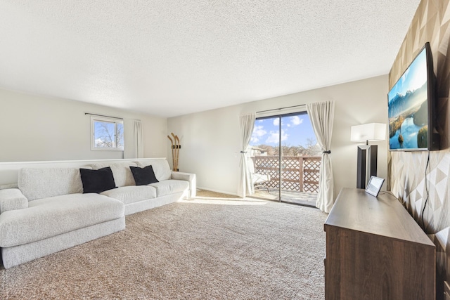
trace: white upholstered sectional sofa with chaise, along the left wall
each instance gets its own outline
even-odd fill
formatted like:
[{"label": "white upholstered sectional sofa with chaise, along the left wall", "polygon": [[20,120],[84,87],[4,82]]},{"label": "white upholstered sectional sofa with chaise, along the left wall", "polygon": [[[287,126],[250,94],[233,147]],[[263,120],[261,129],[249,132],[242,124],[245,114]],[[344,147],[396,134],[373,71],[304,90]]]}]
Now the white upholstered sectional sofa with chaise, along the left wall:
[{"label": "white upholstered sectional sofa with chaise, along the left wall", "polygon": [[[130,167],[141,171],[150,165],[158,182],[136,185]],[[86,181],[91,178],[84,176],[82,180],[81,173],[95,175],[98,171],[92,170],[103,168],[110,169],[117,188],[84,193]],[[195,174],[171,171],[166,159],[92,162],[79,167],[23,167],[18,170],[16,188],[0,189],[4,267],[124,230],[128,214],[193,196]]]}]

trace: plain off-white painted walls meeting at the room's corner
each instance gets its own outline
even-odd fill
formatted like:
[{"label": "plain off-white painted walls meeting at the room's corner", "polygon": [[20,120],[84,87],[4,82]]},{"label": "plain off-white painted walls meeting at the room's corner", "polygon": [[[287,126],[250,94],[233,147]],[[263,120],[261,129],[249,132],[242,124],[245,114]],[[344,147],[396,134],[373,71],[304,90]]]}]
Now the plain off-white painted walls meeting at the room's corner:
[{"label": "plain off-white painted walls meeting at the room's corner", "polygon": [[[335,100],[332,154],[336,194],[356,186],[356,143],[350,127],[387,122],[387,75],[277,98],[173,117],[151,117],[112,107],[0,89],[0,162],[117,159],[122,152],[91,151],[85,112],[141,119],[145,157],[167,157],[167,134],[181,140],[180,171],[197,174],[200,188],[236,194],[240,152],[239,115],[291,105]],[[212,99],[213,101],[214,99]],[[127,143],[127,136],[126,143]],[[378,176],[386,178],[387,143],[378,143]]]}]

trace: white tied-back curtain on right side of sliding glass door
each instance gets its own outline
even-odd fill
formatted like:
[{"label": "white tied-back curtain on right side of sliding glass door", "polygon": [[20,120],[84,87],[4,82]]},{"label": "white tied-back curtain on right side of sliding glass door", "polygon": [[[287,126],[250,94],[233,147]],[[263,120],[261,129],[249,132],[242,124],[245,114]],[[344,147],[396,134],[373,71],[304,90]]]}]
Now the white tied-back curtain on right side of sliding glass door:
[{"label": "white tied-back curtain on right side of sliding glass door", "polygon": [[334,203],[333,166],[331,165],[330,145],[333,133],[333,119],[335,115],[335,103],[326,101],[307,104],[307,112],[311,124],[316,133],[317,143],[322,149],[322,162],[319,175],[319,193],[317,194],[316,207],[330,212]]}]

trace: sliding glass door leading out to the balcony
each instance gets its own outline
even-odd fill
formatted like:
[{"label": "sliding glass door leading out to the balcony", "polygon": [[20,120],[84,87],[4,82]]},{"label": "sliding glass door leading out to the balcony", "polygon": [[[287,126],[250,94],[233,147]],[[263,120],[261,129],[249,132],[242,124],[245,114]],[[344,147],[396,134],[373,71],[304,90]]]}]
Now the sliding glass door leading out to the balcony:
[{"label": "sliding glass door leading out to the balcony", "polygon": [[257,118],[248,151],[254,196],[315,206],[320,155],[307,112]]}]

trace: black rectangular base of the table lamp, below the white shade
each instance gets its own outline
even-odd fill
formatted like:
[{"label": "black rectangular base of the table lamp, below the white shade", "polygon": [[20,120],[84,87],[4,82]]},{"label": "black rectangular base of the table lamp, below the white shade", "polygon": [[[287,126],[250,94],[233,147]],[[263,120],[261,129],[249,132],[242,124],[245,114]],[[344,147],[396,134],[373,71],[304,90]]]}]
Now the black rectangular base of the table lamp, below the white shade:
[{"label": "black rectangular base of the table lamp, below the white shade", "polygon": [[359,145],[356,188],[366,188],[371,176],[377,176],[378,145]]}]

